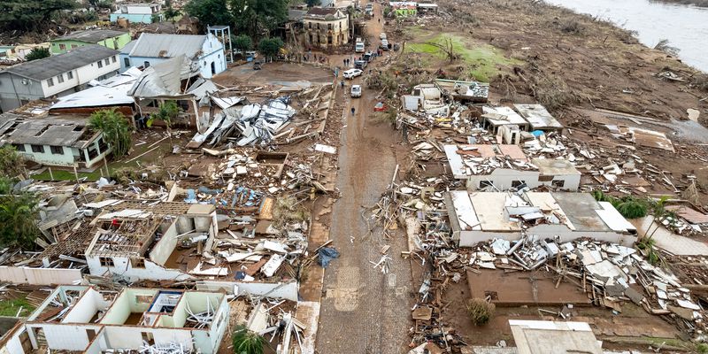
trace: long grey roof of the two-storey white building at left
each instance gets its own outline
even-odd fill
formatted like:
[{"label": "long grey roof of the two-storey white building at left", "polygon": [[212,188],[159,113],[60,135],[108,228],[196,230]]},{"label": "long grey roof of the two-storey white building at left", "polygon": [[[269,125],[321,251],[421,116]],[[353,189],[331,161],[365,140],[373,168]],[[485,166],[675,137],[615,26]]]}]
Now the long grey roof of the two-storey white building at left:
[{"label": "long grey roof of the two-storey white building at left", "polygon": [[98,60],[110,58],[118,53],[118,50],[112,50],[103,45],[90,44],[50,58],[10,66],[0,73],[14,73],[28,79],[42,81]]}]

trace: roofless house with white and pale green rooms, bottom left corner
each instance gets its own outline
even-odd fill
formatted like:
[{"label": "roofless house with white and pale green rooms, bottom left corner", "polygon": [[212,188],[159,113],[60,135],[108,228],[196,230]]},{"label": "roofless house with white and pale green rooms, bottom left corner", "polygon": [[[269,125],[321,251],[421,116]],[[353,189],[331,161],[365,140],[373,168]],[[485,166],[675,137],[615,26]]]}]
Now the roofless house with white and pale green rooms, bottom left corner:
[{"label": "roofless house with white and pale green rooms, bottom left corner", "polygon": [[14,327],[0,352],[29,354],[45,347],[50,352],[211,354],[218,352],[228,322],[227,297],[220,292],[126,288],[116,294],[60,286]]}]

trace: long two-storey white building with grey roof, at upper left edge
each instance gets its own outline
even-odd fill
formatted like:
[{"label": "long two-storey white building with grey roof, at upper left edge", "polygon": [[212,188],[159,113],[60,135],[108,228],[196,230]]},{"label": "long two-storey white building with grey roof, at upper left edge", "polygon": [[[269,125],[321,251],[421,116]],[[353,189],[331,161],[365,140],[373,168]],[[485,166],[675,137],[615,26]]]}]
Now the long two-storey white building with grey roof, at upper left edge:
[{"label": "long two-storey white building with grey roof, at upper left edge", "polygon": [[10,112],[36,99],[65,96],[89,81],[113,76],[120,69],[118,55],[118,50],[92,44],[10,66],[0,71],[0,109]]}]

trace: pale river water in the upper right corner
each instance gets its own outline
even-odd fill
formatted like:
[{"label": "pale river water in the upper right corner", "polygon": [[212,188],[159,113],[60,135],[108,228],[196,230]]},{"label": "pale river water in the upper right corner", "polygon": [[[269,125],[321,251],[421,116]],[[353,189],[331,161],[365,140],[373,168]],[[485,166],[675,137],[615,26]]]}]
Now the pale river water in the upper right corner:
[{"label": "pale river water in the upper right corner", "polygon": [[636,31],[639,42],[648,47],[667,39],[680,50],[681,61],[708,73],[708,8],[649,0],[545,1]]}]

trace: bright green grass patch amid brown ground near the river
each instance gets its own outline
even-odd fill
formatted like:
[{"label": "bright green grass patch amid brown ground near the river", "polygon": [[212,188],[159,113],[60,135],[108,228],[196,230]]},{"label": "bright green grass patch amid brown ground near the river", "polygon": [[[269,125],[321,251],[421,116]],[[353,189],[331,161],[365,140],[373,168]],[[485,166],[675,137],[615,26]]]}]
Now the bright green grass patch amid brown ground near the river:
[{"label": "bright green grass patch amid brown ground near the river", "polygon": [[447,59],[443,50],[430,43],[445,45],[449,40],[452,43],[452,49],[459,54],[465,64],[470,66],[469,75],[477,81],[489,82],[490,78],[499,72],[499,66],[520,64],[519,60],[504,57],[503,51],[492,45],[470,44],[466,42],[465,38],[458,35],[436,35],[427,41],[408,42],[405,44],[405,52]]}]

